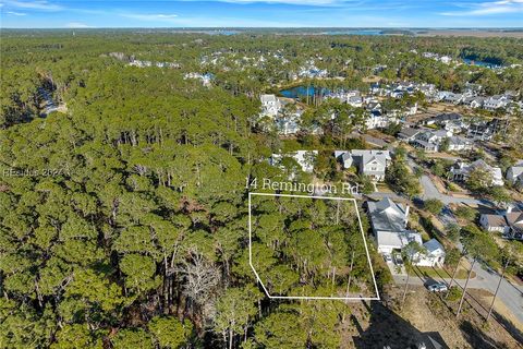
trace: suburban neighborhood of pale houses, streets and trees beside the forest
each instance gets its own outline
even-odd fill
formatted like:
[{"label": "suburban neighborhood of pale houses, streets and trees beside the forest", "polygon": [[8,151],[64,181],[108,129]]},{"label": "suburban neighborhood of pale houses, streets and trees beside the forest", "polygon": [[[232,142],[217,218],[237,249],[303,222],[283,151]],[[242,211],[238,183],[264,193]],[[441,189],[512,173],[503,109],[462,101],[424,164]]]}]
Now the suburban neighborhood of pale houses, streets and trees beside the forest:
[{"label": "suburban neighborhood of pale houses, streets and trees beside the forest", "polygon": [[[425,57],[455,64],[450,57]],[[409,81],[280,88],[259,97],[258,125],[276,132],[282,146],[269,163],[285,168],[288,179],[297,174],[284,157],[314,182],[355,182],[372,248],[404,294],[413,285],[461,296],[470,285],[496,292],[491,285],[502,269],[485,272],[492,257],[473,257],[467,239],[477,236],[498,251],[523,241],[523,160],[507,151],[504,139],[520,128],[521,92],[488,95],[473,83],[447,91]],[[337,145],[318,142],[326,139]],[[504,277],[500,301],[514,309],[520,291],[511,285],[520,278]],[[514,316],[523,321],[523,312]]]}]

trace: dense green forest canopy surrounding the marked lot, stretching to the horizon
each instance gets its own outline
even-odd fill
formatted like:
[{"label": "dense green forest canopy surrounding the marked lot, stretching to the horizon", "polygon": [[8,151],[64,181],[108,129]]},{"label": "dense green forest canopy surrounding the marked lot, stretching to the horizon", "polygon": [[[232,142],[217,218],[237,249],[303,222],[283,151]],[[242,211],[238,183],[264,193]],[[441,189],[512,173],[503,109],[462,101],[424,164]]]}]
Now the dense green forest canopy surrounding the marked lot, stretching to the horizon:
[{"label": "dense green forest canopy surrounding the marked lot, stretching to the horizon", "polygon": [[318,82],[332,86],[367,88],[378,64],[381,79],[453,89],[523,85],[521,68],[454,70],[412,51],[522,63],[510,38],[2,31],[1,50],[5,348],[339,347],[350,305],[269,301],[247,263],[245,178],[284,178],[265,161],[280,142],[253,124],[258,95],[312,58],[345,77]]}]

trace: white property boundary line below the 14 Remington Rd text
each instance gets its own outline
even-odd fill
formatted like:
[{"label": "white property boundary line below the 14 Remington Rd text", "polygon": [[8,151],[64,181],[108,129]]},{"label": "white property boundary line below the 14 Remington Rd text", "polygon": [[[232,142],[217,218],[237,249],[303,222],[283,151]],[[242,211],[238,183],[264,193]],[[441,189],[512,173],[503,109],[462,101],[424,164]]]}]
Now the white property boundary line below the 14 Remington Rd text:
[{"label": "white property boundary line below the 14 Remington Rd text", "polygon": [[[279,197],[302,197],[302,198],[321,198],[321,200],[340,200],[340,201],[352,201],[354,203],[354,207],[356,209],[356,216],[357,216],[357,222],[360,224],[360,230],[362,231],[362,239],[363,239],[363,244],[365,245],[365,252],[367,253],[367,262],[368,266],[370,268],[370,274],[373,275],[373,281],[374,281],[374,289],[376,291],[376,297],[305,297],[305,296],[270,296],[269,291],[264,285],[264,281],[262,281],[262,278],[259,277],[258,273],[254,268],[253,265],[253,249],[252,249],[252,214],[251,214],[251,197],[253,195],[257,196],[279,196]],[[313,196],[313,195],[293,195],[293,194],[272,194],[272,193],[248,193],[248,265],[251,265],[251,268],[253,269],[254,274],[256,275],[256,278],[258,279],[258,282],[262,285],[265,293],[267,294],[268,298],[270,299],[330,299],[330,300],[345,300],[345,301],[360,301],[360,300],[367,300],[367,301],[379,301],[379,292],[378,292],[378,285],[376,282],[376,277],[374,276],[374,269],[373,269],[373,264],[370,263],[370,254],[368,253],[368,248],[367,248],[367,241],[365,240],[365,233],[363,232],[363,225],[362,225],[362,218],[360,217],[360,210],[357,209],[357,203],[356,200],[353,197],[335,197],[335,196]]]}]

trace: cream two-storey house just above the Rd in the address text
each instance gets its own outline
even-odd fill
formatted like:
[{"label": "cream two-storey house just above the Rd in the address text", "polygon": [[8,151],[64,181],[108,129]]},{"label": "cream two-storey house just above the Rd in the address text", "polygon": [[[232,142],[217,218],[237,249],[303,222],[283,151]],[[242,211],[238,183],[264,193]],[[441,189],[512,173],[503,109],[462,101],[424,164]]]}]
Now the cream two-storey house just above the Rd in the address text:
[{"label": "cream two-storey house just above the Rd in the address text", "polygon": [[337,151],[335,157],[341,161],[343,168],[354,166],[358,173],[370,177],[375,181],[385,179],[385,171],[391,161],[389,151]]}]

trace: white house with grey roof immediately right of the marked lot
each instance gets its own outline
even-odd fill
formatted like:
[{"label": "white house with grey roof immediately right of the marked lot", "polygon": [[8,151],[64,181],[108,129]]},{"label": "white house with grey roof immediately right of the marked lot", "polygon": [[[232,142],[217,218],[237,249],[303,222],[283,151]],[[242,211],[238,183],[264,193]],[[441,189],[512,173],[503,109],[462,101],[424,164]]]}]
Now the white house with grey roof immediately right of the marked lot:
[{"label": "white house with grey roof immediately right of the marked lot", "polygon": [[417,231],[406,229],[409,206],[386,197],[379,202],[367,202],[367,207],[379,253],[400,251],[411,241],[423,243]]}]

